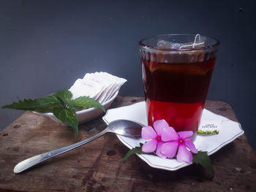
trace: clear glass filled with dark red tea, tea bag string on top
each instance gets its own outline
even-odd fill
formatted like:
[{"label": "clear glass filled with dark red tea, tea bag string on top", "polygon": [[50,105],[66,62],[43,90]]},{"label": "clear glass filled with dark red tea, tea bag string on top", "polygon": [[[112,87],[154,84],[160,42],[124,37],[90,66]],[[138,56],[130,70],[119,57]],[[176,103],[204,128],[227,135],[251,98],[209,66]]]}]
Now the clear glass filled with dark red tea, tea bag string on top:
[{"label": "clear glass filled with dark red tea, tea bag string on top", "polygon": [[148,125],[165,119],[176,131],[197,131],[219,41],[200,34],[140,40]]}]

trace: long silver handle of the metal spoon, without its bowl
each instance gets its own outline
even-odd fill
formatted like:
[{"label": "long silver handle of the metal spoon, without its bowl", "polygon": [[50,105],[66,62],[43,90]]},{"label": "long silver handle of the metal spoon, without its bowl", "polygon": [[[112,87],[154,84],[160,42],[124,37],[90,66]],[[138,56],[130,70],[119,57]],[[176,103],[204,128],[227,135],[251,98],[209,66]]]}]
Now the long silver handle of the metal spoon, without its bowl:
[{"label": "long silver handle of the metal spoon, without its bowl", "polygon": [[80,142],[76,142],[72,145],[69,145],[67,147],[62,147],[59,148],[57,150],[52,150],[46,153],[42,153],[40,155],[35,155],[34,157],[31,158],[27,158],[24,161],[21,161],[20,163],[18,163],[15,168],[13,169],[13,172],[15,173],[20,173],[25,171],[26,169],[29,169],[31,166],[34,166],[36,164],[41,163],[42,161],[45,161],[49,158],[52,158],[56,155],[60,155],[61,153],[65,153],[69,150],[75,149],[76,147],[80,147],[81,145],[84,145],[88,142],[91,142],[94,139],[97,139],[98,137],[101,137],[103,134],[107,133],[107,128],[105,130],[103,130],[102,132],[100,132],[99,134],[94,135],[93,137],[90,137],[88,139],[85,139],[83,141]]}]

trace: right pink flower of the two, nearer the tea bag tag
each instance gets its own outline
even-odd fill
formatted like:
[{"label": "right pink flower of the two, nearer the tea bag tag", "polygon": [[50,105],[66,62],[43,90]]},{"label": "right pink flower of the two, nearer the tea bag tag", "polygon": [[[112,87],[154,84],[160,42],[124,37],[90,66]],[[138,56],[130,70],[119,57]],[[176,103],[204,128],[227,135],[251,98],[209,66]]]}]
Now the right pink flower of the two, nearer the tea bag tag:
[{"label": "right pink flower of the two, nearer the tea bag tag", "polygon": [[[192,153],[197,153],[194,143],[188,139],[193,134],[193,131],[181,131],[176,133],[174,128],[165,128],[162,131],[162,141],[160,153],[167,158],[173,158],[178,149],[177,160],[189,164],[193,160]],[[187,147],[189,150],[187,150]]]}]

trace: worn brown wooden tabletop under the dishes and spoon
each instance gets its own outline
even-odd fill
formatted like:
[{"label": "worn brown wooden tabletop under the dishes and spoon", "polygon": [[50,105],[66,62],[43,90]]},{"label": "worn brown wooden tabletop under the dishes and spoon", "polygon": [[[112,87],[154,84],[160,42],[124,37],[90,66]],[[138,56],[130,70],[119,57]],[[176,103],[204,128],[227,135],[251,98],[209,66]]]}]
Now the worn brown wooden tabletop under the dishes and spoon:
[{"label": "worn brown wooden tabletop under the dishes and spoon", "polygon": [[[138,101],[142,98],[118,96],[112,107]],[[237,121],[225,102],[207,101],[206,109]],[[25,112],[0,132],[0,191],[256,191],[256,155],[245,135],[211,155],[213,180],[205,179],[203,169],[195,164],[169,172],[151,168],[136,155],[122,162],[128,149],[114,134],[26,172],[12,171],[26,158],[71,145],[103,128],[101,118],[84,123],[75,139],[72,128]]]}]

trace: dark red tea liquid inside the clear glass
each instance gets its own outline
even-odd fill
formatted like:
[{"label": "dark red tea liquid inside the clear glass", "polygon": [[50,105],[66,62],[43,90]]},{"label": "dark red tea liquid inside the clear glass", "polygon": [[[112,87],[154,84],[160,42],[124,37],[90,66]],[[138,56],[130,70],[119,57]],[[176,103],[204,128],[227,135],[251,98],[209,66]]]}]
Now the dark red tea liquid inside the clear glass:
[{"label": "dark red tea liquid inside the clear glass", "polygon": [[189,64],[141,62],[148,125],[165,119],[176,131],[197,131],[215,58]]}]

